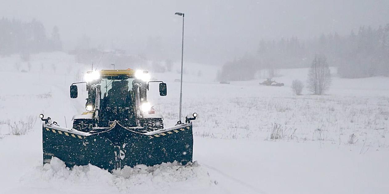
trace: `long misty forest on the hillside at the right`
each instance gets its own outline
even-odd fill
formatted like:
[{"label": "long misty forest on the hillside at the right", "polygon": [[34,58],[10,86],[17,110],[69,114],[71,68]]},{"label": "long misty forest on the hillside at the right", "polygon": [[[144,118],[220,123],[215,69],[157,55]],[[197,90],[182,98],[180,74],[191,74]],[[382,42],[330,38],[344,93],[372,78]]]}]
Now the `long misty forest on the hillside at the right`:
[{"label": "long misty forest on the hillside at the right", "polygon": [[389,76],[389,23],[378,29],[361,26],[346,36],[331,33],[312,40],[261,40],[255,54],[224,64],[218,78],[251,80],[261,69],[309,67],[315,54],[325,55],[329,66],[337,67],[343,78]]}]

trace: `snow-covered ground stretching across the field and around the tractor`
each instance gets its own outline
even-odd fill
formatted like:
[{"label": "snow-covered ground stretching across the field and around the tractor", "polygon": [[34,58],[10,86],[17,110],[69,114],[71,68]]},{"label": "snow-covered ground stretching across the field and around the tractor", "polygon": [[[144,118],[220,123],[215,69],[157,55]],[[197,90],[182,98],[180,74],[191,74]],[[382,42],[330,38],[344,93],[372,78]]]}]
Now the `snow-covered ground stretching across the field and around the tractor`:
[{"label": "snow-covered ground stretching across the field and around the tractor", "polygon": [[[333,69],[327,95],[304,90],[295,96],[291,82],[307,80],[308,69],[281,69],[275,79],[285,86],[266,87],[258,84],[263,80],[219,84],[216,67],[185,65],[183,113],[198,113],[196,163],[110,174],[91,165],[70,171],[55,159],[41,165],[38,115],[71,126],[86,93],[70,99],[69,86],[90,67],[60,52],[32,55],[30,62],[0,58],[0,193],[389,192],[389,78],[341,79]],[[173,125],[179,74],[154,77],[168,84],[168,95],[160,97],[158,85],[151,85],[149,101],[166,126]],[[15,128],[26,135],[11,135]]]}]

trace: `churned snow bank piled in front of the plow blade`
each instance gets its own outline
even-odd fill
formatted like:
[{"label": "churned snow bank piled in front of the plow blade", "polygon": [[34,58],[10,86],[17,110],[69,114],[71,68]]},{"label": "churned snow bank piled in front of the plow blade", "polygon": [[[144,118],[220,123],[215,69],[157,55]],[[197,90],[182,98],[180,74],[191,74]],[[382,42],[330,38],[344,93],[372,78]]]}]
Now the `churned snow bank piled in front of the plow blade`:
[{"label": "churned snow bank piled in front of the plow blade", "polygon": [[[26,173],[21,178],[25,187],[55,188],[73,191],[76,189],[86,192],[143,192],[152,193],[201,189],[209,190],[215,185],[204,168],[198,163],[180,165],[177,162],[162,163],[161,165],[137,165],[134,168],[125,166],[122,170],[114,170],[111,174],[93,165],[74,166],[66,168],[65,163],[53,158],[50,164],[39,166]],[[74,189],[69,189],[74,188]],[[108,191],[107,191],[108,192]],[[169,192],[170,193],[170,192]]]}]

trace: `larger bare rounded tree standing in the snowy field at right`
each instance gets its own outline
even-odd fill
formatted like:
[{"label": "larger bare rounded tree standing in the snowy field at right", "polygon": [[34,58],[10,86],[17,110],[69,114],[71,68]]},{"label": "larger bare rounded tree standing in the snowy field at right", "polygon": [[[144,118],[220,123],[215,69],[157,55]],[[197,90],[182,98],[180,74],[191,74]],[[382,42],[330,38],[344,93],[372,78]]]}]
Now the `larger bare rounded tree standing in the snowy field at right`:
[{"label": "larger bare rounded tree standing in the snowy field at right", "polygon": [[331,85],[331,72],[325,56],[315,56],[308,72],[308,90],[322,95]]}]

